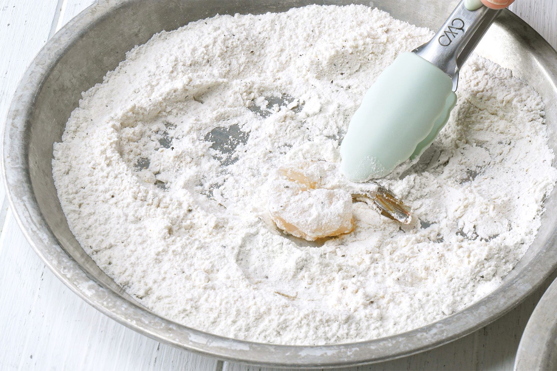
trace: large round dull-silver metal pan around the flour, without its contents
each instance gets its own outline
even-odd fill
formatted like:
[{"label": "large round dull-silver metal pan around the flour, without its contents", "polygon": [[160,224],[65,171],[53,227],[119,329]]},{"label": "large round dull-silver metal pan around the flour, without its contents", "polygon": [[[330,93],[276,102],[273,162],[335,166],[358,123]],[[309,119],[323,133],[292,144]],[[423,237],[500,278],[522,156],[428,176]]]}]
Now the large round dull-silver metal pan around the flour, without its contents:
[{"label": "large round dull-silver metal pan around the flour, without its contents", "polygon": [[[332,367],[402,357],[460,338],[516,306],[557,264],[557,196],[538,236],[502,285],[477,303],[436,323],[367,342],[316,347],[251,343],[179,325],[145,309],[104,274],[71,234],[52,181],[52,144],[60,141],[81,92],[101,82],[125,52],[155,32],[215,14],[282,12],[306,0],[101,1],[72,19],[41,50],[21,81],[4,132],[2,167],[19,226],[53,273],[102,313],[142,334],[194,352],[247,363]],[[320,4],[348,4],[325,0]],[[456,6],[447,0],[374,0],[395,18],[437,29]],[[557,145],[557,55],[541,36],[505,11],[478,52],[534,86],[544,97],[549,144]],[[187,56],[184,56],[187,57]],[[520,123],[517,123],[520,125]]]}]

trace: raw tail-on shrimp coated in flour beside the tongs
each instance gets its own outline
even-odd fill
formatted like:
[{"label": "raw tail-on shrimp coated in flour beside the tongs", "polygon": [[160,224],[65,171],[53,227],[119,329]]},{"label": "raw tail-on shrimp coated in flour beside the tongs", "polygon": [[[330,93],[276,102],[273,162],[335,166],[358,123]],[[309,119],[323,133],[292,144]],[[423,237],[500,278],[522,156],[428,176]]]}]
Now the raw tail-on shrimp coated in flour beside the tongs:
[{"label": "raw tail-on shrimp coated in flour beside the tongs", "polygon": [[330,162],[295,162],[272,172],[268,181],[271,219],[285,233],[308,241],[353,231],[354,200],[367,202],[390,219],[410,222],[409,207],[389,191],[375,184],[356,186]]}]

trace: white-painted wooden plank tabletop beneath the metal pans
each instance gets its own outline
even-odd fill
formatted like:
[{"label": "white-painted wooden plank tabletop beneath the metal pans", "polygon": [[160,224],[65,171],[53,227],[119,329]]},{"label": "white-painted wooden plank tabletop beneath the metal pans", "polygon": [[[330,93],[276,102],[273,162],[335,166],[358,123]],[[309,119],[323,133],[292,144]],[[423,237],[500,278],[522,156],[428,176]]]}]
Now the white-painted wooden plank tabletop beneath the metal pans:
[{"label": "white-painted wooden plank tabletop beneath the metal pans", "polygon": [[[0,0],[0,124],[19,78],[48,38],[92,0]],[[557,1],[512,6],[557,48]],[[267,370],[175,349],[99,313],[35,255],[0,184],[0,370]],[[494,323],[455,342],[402,359],[354,368],[512,369],[543,288]]]}]

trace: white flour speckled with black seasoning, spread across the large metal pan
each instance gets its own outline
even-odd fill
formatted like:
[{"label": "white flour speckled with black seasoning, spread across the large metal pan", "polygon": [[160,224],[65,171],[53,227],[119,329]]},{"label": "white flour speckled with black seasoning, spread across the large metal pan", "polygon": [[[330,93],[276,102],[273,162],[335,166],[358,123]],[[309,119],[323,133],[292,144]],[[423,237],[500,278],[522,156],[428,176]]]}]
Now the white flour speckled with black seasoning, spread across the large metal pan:
[{"label": "white flour speckled with black seasoning, spread across the large metal pan", "polygon": [[[380,181],[413,207],[411,225],[356,202],[352,233],[296,245],[266,209],[267,176],[291,161],[338,162],[364,92],[429,37],[364,6],[218,16],[155,35],[84,93],[55,145],[72,232],[142,304],[228,337],[352,342],[454,313],[525,253],[557,179],[543,103],[510,71],[472,57],[439,138]],[[236,135],[232,155],[212,143],[216,127]]]}]

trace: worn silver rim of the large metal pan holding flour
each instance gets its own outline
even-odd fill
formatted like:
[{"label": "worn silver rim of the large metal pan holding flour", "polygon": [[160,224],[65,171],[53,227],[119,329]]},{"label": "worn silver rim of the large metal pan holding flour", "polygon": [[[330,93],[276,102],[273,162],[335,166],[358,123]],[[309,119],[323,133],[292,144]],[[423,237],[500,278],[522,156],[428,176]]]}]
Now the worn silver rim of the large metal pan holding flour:
[{"label": "worn silver rim of the large metal pan holding flour", "polygon": [[[26,130],[33,102],[65,52],[95,24],[133,0],[95,2],[58,31],[38,52],[19,82],[3,132],[1,168],[6,196],[19,227],[45,265],[95,309],[128,328],[190,352],[233,362],[274,367],[324,368],[360,365],[423,352],[461,338],[499,318],[524,300],[557,266],[556,231],[520,275],[470,306],[424,327],[358,343],[276,345],[226,338],[174,323],[115,293],[90,276],[69,255],[42,217],[28,172]],[[506,10],[496,21],[516,29],[526,42],[545,40],[519,17]],[[553,52],[557,53],[545,42]],[[557,70],[548,78],[557,82]],[[532,268],[532,267],[535,267]]]}]

